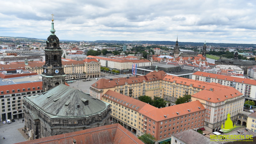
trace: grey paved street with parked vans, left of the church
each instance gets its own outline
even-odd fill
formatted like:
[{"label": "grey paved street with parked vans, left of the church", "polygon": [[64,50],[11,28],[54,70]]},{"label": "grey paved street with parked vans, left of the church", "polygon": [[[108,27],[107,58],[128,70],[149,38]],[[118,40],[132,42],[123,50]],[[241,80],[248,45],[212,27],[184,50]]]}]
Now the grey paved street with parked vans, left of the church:
[{"label": "grey paved street with parked vans, left of the church", "polygon": [[[22,119],[14,119],[15,122],[11,122],[11,124],[0,124],[0,143],[1,144],[11,144],[26,141],[26,134],[21,133],[24,132],[22,129],[24,128],[25,123],[21,123]],[[18,130],[21,129],[21,132]],[[3,139],[3,137],[5,139]]]}]

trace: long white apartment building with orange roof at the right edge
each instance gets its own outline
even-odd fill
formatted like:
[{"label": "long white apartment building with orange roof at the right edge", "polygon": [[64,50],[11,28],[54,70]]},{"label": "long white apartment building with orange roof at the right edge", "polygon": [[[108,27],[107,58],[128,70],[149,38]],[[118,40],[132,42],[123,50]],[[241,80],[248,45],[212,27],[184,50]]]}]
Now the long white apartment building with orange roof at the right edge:
[{"label": "long white apartment building with orange roof at the right edge", "polygon": [[234,87],[245,96],[245,100],[256,101],[256,81],[252,79],[239,78],[233,76],[222,76],[217,74],[195,72],[192,79],[203,82],[219,83],[221,85]]}]

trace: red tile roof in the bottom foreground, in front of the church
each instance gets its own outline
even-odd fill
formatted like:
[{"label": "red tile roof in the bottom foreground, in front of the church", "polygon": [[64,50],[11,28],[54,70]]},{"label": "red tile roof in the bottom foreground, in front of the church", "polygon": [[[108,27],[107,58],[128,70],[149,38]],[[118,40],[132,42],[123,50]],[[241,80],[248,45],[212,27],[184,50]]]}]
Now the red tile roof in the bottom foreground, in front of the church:
[{"label": "red tile roof in the bottom foreground, in front of the church", "polygon": [[20,142],[19,144],[72,144],[74,140],[77,144],[144,144],[120,124],[110,124],[77,132],[70,132],[36,140],[29,140]]}]

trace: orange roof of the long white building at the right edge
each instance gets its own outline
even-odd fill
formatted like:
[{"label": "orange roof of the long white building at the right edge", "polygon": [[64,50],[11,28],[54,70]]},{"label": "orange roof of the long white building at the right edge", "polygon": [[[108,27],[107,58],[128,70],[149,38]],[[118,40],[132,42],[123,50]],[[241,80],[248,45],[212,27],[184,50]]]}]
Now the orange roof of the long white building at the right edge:
[{"label": "orange roof of the long white building at the right edge", "polygon": [[232,82],[237,82],[237,83],[256,85],[256,81],[255,80],[247,79],[247,78],[239,78],[239,77],[233,77],[233,76],[217,75],[217,74],[211,74],[211,73],[200,72],[200,71],[195,72],[193,75],[211,77],[211,78],[222,79],[222,80],[232,81]]}]

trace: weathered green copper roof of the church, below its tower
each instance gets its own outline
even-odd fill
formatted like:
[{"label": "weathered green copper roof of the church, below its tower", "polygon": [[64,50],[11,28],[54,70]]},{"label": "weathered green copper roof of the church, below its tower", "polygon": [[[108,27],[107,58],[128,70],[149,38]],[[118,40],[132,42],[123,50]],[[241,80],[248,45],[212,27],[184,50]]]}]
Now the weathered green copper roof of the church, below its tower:
[{"label": "weathered green copper roof of the church, below its tower", "polygon": [[[50,117],[90,116],[104,111],[109,105],[64,84],[60,84],[41,95],[26,97],[25,99]],[[88,100],[89,104],[85,105],[82,100]]]}]

